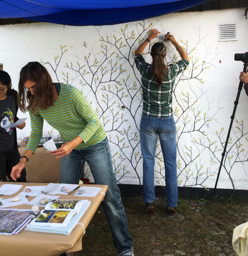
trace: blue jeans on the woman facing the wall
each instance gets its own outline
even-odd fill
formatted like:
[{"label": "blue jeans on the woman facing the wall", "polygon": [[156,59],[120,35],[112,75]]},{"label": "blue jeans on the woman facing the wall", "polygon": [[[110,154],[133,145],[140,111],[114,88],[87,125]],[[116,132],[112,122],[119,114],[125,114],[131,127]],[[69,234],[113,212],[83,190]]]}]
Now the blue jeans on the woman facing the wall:
[{"label": "blue jeans on the woman facing the wall", "polygon": [[141,116],[139,137],[143,155],[143,201],[154,202],[154,165],[157,139],[159,136],[165,167],[166,204],[177,206],[177,141],[173,116],[156,118]]}]

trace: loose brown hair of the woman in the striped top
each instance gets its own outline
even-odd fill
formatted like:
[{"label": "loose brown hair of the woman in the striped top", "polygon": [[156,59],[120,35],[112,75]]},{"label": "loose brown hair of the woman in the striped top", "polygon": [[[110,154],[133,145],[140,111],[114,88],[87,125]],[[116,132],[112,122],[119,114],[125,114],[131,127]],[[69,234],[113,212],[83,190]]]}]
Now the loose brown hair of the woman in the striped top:
[{"label": "loose brown hair of the woman in the striped top", "polygon": [[[27,80],[36,82],[34,95],[24,87]],[[20,110],[22,112],[32,110],[37,113],[38,107],[41,110],[47,109],[53,105],[52,97],[53,83],[46,68],[37,61],[28,62],[20,72],[18,97]]]}]

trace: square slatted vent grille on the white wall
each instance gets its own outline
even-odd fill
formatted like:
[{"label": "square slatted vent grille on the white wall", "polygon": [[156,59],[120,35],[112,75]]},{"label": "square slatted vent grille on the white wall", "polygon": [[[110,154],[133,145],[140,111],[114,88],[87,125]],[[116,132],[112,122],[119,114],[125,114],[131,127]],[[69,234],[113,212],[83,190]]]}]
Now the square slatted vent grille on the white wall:
[{"label": "square slatted vent grille on the white wall", "polygon": [[219,41],[234,41],[237,38],[237,21],[230,23],[218,23]]}]

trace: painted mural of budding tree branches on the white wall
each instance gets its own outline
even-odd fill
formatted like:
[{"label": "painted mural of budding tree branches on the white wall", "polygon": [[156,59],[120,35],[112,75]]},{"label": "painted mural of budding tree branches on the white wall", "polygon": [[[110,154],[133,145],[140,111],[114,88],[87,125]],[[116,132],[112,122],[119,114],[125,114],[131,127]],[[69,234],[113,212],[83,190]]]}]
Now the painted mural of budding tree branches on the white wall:
[{"label": "painted mural of budding tree branches on the white wall", "polygon": [[[149,20],[135,22],[132,26],[135,30],[128,29],[126,24],[106,35],[101,34],[101,27],[96,27],[99,41],[91,49],[84,48],[84,56],[73,53],[70,55],[71,60],[67,61],[67,48],[61,45],[60,55],[54,57],[54,64],[41,60],[43,65],[50,66],[57,81],[62,77],[65,83],[78,87],[87,97],[108,134],[113,168],[119,183],[129,183],[133,179],[136,180],[135,183],[142,182],[142,154],[139,144],[142,92],[133,53],[146,38],[149,29],[159,27],[159,22],[160,20],[155,23]],[[161,24],[160,30],[164,34],[165,29],[167,28],[162,28]],[[215,116],[222,108],[219,105],[218,108],[213,108],[213,99],[209,99],[208,95],[209,87],[203,79],[208,68],[215,68],[213,62],[218,55],[217,49],[213,53],[213,47],[206,43],[207,35],[202,36],[200,28],[195,28],[195,31],[194,44],[180,39],[191,62],[177,77],[173,91],[173,114],[177,127],[177,174],[179,186],[206,187],[206,181],[218,170],[217,164],[220,163],[225,139],[224,128],[219,132],[211,132],[211,127],[218,125]],[[148,62],[148,53],[156,40],[150,42],[146,52],[142,53]],[[166,62],[169,65],[177,62],[180,57],[168,45]],[[223,169],[233,188],[235,177],[232,173],[235,166],[248,161],[247,151],[242,144],[247,143],[247,132],[244,131],[243,121],[236,122],[237,126],[233,131],[235,140],[229,139],[223,163]],[[155,157],[156,182],[164,185],[165,168],[159,141]],[[85,168],[88,175],[89,168]]]}]

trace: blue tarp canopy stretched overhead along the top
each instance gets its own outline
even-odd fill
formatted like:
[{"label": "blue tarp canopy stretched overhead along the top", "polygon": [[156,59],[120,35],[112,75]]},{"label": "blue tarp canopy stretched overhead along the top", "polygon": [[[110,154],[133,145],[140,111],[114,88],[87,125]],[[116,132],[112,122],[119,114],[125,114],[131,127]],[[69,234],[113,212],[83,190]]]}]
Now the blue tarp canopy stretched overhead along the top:
[{"label": "blue tarp canopy stretched overhead along the top", "polygon": [[111,25],[177,12],[207,1],[0,0],[0,18],[23,18],[72,26]]}]

